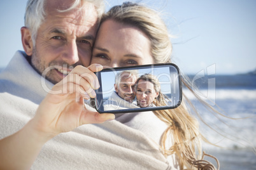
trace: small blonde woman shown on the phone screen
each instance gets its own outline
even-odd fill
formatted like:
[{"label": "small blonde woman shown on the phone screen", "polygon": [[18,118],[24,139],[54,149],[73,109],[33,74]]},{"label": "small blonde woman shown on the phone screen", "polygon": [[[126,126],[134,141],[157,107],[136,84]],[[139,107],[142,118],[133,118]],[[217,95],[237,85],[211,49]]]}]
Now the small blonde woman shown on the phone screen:
[{"label": "small blonde woman shown on the phone screen", "polygon": [[166,105],[160,91],[160,83],[152,74],[143,74],[136,82],[136,99],[139,107],[157,107]]}]

